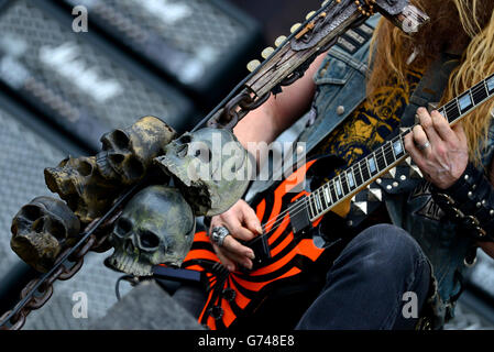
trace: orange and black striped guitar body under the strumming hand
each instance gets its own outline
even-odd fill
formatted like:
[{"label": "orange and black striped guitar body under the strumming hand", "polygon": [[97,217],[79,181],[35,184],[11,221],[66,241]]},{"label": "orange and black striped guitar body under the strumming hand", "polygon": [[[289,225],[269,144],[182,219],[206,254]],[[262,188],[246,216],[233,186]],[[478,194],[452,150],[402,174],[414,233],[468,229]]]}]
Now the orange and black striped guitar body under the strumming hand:
[{"label": "orange and black striped guitar body under the strumming hand", "polygon": [[301,223],[296,219],[303,209],[298,205],[309,193],[293,191],[318,161],[307,162],[251,204],[264,229],[264,235],[248,243],[259,260],[252,271],[228,272],[220,265],[207,233],[196,233],[182,267],[199,271],[207,278],[207,302],[200,323],[212,330],[245,326],[293,328],[321,289],[341,245],[316,246],[312,234],[322,218],[294,231],[294,222]]}]

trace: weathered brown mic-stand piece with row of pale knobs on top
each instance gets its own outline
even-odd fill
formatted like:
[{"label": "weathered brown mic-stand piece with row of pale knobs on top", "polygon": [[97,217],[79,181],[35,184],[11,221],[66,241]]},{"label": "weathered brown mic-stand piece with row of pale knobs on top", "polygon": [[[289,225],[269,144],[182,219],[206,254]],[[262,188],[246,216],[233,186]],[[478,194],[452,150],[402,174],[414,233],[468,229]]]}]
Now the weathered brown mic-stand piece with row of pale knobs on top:
[{"label": "weathered brown mic-stand piece with row of pale knobs on top", "polygon": [[409,0],[326,0],[319,10],[306,15],[304,23],[295,23],[288,36],[279,36],[274,46],[266,47],[260,58],[248,64],[251,74],[240,85],[242,90],[211,114],[208,125],[232,129],[271,94],[279,92],[282,87],[300,78],[340,35],[376,12],[409,34],[418,32],[429,21]]}]

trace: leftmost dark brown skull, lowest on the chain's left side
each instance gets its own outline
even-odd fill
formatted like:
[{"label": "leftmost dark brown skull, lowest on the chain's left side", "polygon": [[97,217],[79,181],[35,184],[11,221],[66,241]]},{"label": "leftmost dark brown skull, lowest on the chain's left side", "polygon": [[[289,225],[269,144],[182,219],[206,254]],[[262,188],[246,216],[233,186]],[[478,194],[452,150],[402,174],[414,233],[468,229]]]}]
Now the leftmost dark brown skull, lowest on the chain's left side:
[{"label": "leftmost dark brown skull, lowest on the chain's left side", "polygon": [[36,271],[46,273],[57,255],[75,244],[80,223],[62,200],[37,197],[12,220],[12,250]]}]

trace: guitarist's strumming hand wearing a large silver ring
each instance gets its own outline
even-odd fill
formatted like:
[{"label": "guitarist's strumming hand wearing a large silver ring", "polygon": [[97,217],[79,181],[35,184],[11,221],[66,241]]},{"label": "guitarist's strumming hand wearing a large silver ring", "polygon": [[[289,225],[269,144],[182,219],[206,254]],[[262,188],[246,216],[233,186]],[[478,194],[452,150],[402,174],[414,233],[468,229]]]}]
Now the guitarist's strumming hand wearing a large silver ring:
[{"label": "guitarist's strumming hand wearing a large silver ring", "polygon": [[252,268],[254,252],[250,248],[242,245],[238,240],[249,241],[263,233],[261,222],[255,216],[254,209],[241,199],[228,211],[211,219],[209,234],[216,227],[226,227],[231,234],[227,235],[221,248],[212,243],[221,263],[230,272],[235,270],[237,264]]}]

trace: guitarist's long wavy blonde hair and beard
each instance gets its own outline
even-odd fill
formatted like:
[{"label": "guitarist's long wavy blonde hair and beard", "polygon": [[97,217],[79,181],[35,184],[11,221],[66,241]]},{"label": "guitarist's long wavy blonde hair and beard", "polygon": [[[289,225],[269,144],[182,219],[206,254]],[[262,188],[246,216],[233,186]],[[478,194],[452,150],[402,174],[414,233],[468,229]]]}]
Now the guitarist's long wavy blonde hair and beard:
[{"label": "guitarist's long wavy blonde hair and beard", "polygon": [[[429,3],[427,3],[429,1]],[[432,0],[417,0],[414,3],[427,11],[427,4]],[[443,94],[441,103],[446,103],[455,96],[471,88],[490,74],[494,73],[494,13],[492,0],[443,0],[442,10],[436,11],[438,21],[449,21],[446,24],[457,25],[458,21],[463,29],[462,37],[465,41],[466,50],[463,52],[460,65],[450,76],[448,87]],[[455,8],[452,8],[454,4]],[[449,7],[448,9],[444,7]],[[426,8],[426,9],[425,9]],[[444,9],[449,11],[444,14]],[[429,9],[430,10],[430,9]],[[441,18],[442,16],[442,18]],[[449,18],[444,18],[449,16]],[[457,23],[454,23],[457,22]],[[454,30],[458,32],[458,30]],[[437,33],[431,24],[429,37],[437,38]],[[424,34],[417,34],[424,35]],[[448,34],[443,34],[448,36]],[[424,35],[422,47],[419,47],[417,58],[413,66],[427,67],[435,58],[435,54],[441,51],[439,44],[429,44],[427,33]],[[406,84],[407,61],[414,51],[417,51],[417,40],[404,34],[388,21],[382,19],[374,33],[371,45],[371,61],[373,70],[367,80],[367,95],[384,85],[391,76],[395,76],[398,82]],[[442,42],[443,43],[443,42]],[[425,45],[425,46],[424,46]],[[436,45],[436,46],[435,46]],[[463,128],[466,133],[470,158],[476,164],[481,163],[481,151],[487,140],[488,125],[492,119],[491,111],[494,109],[494,101],[491,100],[470,116],[463,119]]]}]

